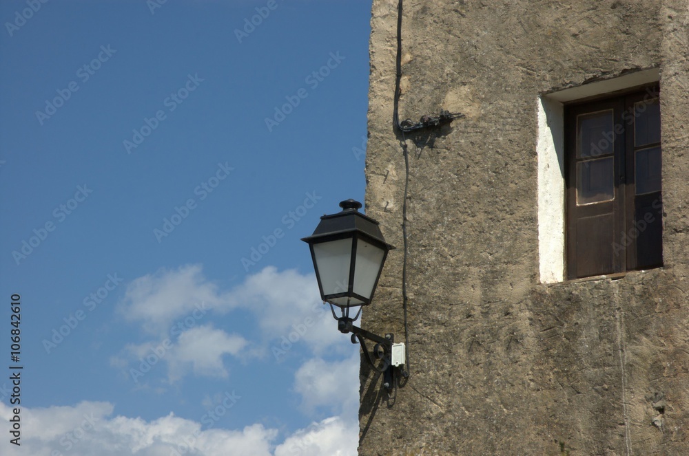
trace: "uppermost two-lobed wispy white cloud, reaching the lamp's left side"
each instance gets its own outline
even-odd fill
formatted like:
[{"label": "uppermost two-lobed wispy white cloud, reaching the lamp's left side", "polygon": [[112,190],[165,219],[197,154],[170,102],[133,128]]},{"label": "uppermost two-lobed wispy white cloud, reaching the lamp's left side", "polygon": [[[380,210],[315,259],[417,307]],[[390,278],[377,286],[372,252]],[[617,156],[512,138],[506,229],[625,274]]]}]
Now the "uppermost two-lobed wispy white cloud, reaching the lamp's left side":
[{"label": "uppermost two-lobed wispy white cloud, reaching the lamp's left side", "polygon": [[169,336],[171,328],[188,329],[187,320],[195,325],[208,318],[207,312],[225,314],[238,308],[256,316],[264,347],[271,340],[290,336],[291,341],[305,343],[317,355],[333,345],[347,344],[329,307],[320,302],[316,277],[296,270],[280,272],[273,266],[247,276],[229,292],[206,279],[200,265],[161,269],[127,285],[118,305],[127,320],[140,323],[160,340]]}]

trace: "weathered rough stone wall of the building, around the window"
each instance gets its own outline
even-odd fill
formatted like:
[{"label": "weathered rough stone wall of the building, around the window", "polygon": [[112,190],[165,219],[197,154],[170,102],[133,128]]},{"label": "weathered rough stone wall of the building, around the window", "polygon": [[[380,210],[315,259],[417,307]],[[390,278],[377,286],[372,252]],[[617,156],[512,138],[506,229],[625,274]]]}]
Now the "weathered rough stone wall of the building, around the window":
[{"label": "weathered rough stone wall of the building, around the window", "polygon": [[[404,339],[398,0],[373,0],[367,214],[389,255],[365,328]],[[689,454],[687,0],[404,3],[409,356],[396,398],[362,364],[360,455]],[[539,283],[537,97],[661,70],[664,267]],[[568,453],[569,452],[569,453]]]}]

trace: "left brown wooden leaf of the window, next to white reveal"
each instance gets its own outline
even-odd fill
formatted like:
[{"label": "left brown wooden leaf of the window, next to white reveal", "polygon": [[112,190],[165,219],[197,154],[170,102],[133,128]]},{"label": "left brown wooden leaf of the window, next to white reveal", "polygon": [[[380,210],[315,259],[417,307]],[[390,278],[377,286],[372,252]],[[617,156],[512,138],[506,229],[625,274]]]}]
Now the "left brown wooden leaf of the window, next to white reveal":
[{"label": "left brown wooden leaf of the window, next to white reveal", "polygon": [[621,100],[566,107],[565,155],[568,159],[567,277],[624,270],[626,246],[616,245],[624,232],[624,134]]}]

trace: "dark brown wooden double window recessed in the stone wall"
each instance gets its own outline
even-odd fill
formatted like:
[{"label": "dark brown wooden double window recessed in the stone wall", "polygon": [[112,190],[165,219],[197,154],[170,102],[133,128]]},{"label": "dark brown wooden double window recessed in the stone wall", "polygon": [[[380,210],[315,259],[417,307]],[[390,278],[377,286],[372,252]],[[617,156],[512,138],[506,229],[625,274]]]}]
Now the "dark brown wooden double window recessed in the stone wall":
[{"label": "dark brown wooden double window recessed in the stone wall", "polygon": [[659,87],[564,107],[568,279],[663,263]]}]

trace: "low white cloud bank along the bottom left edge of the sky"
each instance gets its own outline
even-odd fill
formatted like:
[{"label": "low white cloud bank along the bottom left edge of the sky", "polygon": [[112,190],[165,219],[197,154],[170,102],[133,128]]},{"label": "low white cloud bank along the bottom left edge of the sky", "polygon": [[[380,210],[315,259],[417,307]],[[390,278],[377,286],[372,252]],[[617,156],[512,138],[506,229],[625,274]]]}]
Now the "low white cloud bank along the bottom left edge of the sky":
[{"label": "low white cloud bank along the bottom left edge of the sky", "polygon": [[[261,424],[242,430],[208,429],[172,413],[146,422],[141,418],[112,417],[107,402],[81,402],[74,407],[21,409],[21,446],[3,455],[50,456],[270,456],[277,431]],[[0,417],[7,422],[9,406],[0,403]],[[3,445],[3,448],[6,448]],[[193,448],[195,453],[190,451]]]}]

